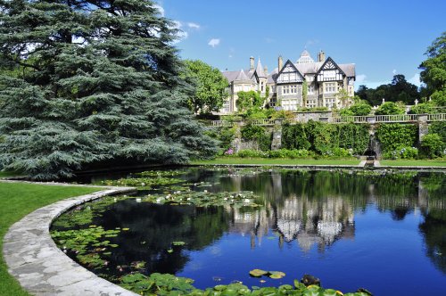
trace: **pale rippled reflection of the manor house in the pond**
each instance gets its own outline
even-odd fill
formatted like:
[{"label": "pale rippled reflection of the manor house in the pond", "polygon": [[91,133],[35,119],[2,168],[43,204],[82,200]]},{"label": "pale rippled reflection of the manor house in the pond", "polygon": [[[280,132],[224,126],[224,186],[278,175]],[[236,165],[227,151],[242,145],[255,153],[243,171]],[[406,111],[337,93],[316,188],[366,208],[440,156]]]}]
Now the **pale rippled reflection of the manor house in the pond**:
[{"label": "pale rippled reflection of the manor house in the pond", "polygon": [[268,206],[262,210],[231,211],[233,221],[229,231],[251,235],[252,248],[256,239],[261,243],[269,228],[280,234],[280,246],[296,240],[303,251],[310,251],[315,244],[324,251],[335,240],[354,236],[353,210],[342,198],[310,201],[292,196],[278,209]]}]

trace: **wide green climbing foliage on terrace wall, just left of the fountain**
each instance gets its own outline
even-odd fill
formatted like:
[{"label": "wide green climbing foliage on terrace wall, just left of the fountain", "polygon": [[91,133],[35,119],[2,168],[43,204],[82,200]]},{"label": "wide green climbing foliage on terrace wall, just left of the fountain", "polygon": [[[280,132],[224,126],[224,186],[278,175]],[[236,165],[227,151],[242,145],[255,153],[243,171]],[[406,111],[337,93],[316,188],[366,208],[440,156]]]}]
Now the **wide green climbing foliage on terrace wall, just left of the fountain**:
[{"label": "wide green climbing foliage on terrace wall, just left of the fountain", "polygon": [[332,154],[336,148],[351,149],[353,154],[362,154],[367,150],[369,141],[368,125],[333,125],[318,121],[285,125],[282,136],[285,149],[307,149],[318,154]]}]

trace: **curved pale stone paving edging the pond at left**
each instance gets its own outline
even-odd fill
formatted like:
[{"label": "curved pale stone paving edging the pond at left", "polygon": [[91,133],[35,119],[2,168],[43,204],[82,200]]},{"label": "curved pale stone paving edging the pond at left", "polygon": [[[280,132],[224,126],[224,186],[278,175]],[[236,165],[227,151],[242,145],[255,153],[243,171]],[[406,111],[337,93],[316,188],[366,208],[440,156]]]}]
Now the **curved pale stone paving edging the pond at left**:
[{"label": "curved pale stone paving edging the pond at left", "polygon": [[4,260],[9,273],[33,295],[136,295],[79,266],[57,248],[49,232],[54,218],[78,204],[134,190],[107,187],[97,193],[57,201],[22,218],[4,236]]}]

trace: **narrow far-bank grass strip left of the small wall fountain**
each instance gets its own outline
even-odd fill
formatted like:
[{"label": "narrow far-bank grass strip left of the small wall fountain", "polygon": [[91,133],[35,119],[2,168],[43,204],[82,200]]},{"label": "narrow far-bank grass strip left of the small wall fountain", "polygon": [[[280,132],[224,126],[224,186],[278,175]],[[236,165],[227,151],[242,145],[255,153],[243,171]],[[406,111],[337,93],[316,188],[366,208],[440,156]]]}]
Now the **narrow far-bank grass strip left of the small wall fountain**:
[{"label": "narrow far-bank grass strip left of the small wall fountain", "polygon": [[357,166],[359,160],[345,159],[345,160],[292,160],[292,159],[262,159],[262,158],[238,158],[238,157],[220,157],[215,160],[197,160],[192,164],[214,165],[214,164],[255,164],[255,165],[346,165]]}]

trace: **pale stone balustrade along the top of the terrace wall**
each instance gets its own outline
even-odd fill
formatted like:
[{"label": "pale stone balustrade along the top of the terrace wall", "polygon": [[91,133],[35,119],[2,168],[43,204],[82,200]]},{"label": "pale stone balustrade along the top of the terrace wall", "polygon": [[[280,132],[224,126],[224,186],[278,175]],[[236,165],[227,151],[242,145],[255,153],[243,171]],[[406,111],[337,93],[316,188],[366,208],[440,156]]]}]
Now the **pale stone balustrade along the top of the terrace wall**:
[{"label": "pale stone balustrade along the top of the terrace wall", "polygon": [[[427,121],[446,121],[446,113],[437,114],[397,114],[397,115],[368,115],[368,116],[344,116],[344,117],[333,117],[333,118],[320,118],[319,121],[326,121],[330,123],[392,123],[392,122],[417,122],[420,116],[427,118]],[[229,121],[229,120],[213,120],[211,121],[212,126],[222,127],[229,126],[235,123],[244,126],[247,124],[252,124],[256,126],[273,126],[275,124],[275,119],[253,119],[253,120],[240,120],[240,121]],[[284,123],[297,124],[302,123],[301,119],[284,119]]]}]

